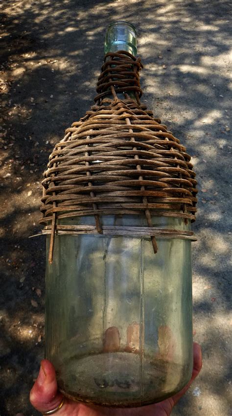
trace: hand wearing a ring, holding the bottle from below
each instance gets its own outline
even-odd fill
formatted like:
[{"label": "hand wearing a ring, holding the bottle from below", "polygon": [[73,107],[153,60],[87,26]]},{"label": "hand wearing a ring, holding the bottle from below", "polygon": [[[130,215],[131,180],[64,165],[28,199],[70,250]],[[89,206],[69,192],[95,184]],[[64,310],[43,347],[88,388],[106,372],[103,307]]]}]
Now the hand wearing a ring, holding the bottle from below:
[{"label": "hand wearing a ring, holding the bottle from below", "polygon": [[[186,393],[190,384],[202,368],[202,353],[199,344],[193,344],[192,377],[181,392],[168,399],[149,406],[133,409],[112,409],[100,406],[86,406],[67,398],[63,406],[55,412],[56,416],[169,416],[173,407]],[[62,394],[57,390],[55,369],[48,360],[42,360],[38,378],[30,392],[31,404],[41,413],[48,412],[59,406]]]}]

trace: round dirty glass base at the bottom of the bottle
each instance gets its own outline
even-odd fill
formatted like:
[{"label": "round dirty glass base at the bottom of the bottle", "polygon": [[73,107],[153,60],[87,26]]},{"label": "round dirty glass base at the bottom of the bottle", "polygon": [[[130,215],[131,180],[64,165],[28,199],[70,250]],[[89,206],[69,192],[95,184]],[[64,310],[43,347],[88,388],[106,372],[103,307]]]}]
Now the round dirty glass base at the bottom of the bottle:
[{"label": "round dirty glass base at the bottom of the bottle", "polygon": [[140,407],[158,403],[187,383],[178,364],[128,352],[72,358],[57,373],[64,396],[86,404]]}]

